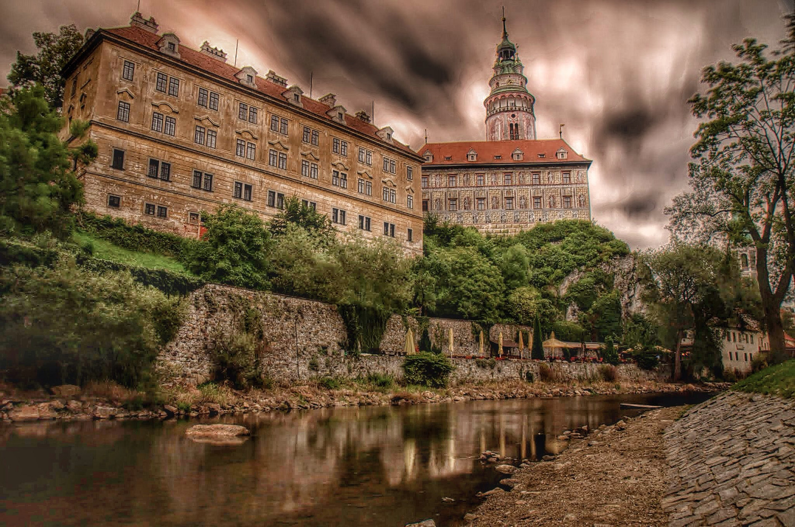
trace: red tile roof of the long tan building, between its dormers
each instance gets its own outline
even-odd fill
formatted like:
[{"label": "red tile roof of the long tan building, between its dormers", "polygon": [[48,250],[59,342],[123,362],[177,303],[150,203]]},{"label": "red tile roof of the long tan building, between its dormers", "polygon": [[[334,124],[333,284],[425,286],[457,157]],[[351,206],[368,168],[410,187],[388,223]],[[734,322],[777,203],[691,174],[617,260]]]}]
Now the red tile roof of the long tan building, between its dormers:
[{"label": "red tile roof of the long tan building, between its dormers", "polygon": [[[130,25],[120,28],[102,29],[102,31],[111,33],[116,37],[122,37],[123,39],[132,41],[135,44],[141,45],[145,48],[159,51],[157,42],[160,41],[162,36],[156,33],[151,33],[138,26]],[[231,80],[234,83],[238,83],[235,73],[239,72],[241,68],[236,68],[232,64],[226,64],[221,60],[208,56],[203,52],[196,51],[196,49],[188,48],[183,44],[180,44],[180,60],[182,60],[182,62],[185,64],[192,66],[193,68],[198,68],[204,72],[209,72],[213,75]],[[282,87],[280,84],[274,83],[268,79],[263,79],[259,76],[256,77],[256,84],[258,90],[262,93],[270,95],[276,99],[286,100],[285,96],[281,95],[286,88]],[[320,101],[316,101],[315,99],[310,99],[305,95],[302,95],[301,97],[301,104],[303,105],[304,110],[315,114],[321,119],[332,121],[332,118],[326,114],[326,112],[331,110],[332,107],[324,103],[320,103]],[[378,126],[364,122],[363,120],[349,114],[345,114],[345,122],[351,129],[356,130],[361,134],[373,136],[378,141],[382,141],[382,139],[375,134],[375,132],[378,130]],[[410,149],[408,145],[404,145],[401,142],[393,141],[392,144],[408,153],[414,153],[414,151]]]}]

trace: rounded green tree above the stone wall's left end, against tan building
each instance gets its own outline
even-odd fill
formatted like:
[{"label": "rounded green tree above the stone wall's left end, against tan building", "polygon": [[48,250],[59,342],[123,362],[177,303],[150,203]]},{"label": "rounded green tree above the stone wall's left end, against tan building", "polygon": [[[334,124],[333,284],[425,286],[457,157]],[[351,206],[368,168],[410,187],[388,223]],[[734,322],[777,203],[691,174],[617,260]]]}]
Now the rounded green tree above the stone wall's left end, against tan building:
[{"label": "rounded green tree above the stone wall's left end, against tan building", "polygon": [[223,205],[215,214],[202,212],[202,222],[207,231],[192,250],[188,269],[207,281],[266,289],[271,241],[262,219]]}]

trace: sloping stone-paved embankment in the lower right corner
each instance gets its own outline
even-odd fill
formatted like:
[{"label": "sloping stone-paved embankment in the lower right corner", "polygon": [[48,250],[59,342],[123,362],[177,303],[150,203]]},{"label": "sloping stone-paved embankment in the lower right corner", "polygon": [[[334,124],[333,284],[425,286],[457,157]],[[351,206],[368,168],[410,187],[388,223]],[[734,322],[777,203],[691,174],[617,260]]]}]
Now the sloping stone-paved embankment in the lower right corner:
[{"label": "sloping stone-paved embankment in the lower right corner", "polygon": [[795,400],[722,393],[663,440],[669,527],[795,527]]}]

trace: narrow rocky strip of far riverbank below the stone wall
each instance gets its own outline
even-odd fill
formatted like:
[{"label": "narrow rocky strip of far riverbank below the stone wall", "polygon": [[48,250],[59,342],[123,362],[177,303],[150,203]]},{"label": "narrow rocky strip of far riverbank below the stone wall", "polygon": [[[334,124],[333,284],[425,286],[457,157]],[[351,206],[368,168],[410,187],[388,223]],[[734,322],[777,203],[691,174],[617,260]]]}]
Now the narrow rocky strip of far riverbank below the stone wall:
[{"label": "narrow rocky strip of far riverbank below the stone wall", "polygon": [[[446,389],[421,386],[347,386],[326,389],[317,382],[301,386],[238,391],[228,386],[169,386],[156,397],[111,383],[56,386],[25,392],[0,386],[0,419],[164,419],[223,413],[257,413],[319,409],[330,406],[414,405],[456,401],[523,399],[530,397],[588,397],[632,393],[712,392],[725,383],[681,384],[655,381],[589,383],[475,382]],[[152,401],[154,399],[154,401]]]}]

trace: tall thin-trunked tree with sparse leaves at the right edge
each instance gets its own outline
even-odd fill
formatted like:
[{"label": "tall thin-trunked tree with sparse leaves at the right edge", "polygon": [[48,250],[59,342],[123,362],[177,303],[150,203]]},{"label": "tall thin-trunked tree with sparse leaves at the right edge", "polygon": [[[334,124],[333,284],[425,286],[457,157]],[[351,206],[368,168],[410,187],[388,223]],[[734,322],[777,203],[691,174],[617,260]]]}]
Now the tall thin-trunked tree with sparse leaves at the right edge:
[{"label": "tall thin-trunked tree with sparse leaves at the right edge", "polygon": [[691,192],[666,209],[673,231],[751,245],[774,361],[785,358],[781,301],[795,269],[795,25],[783,48],[746,39],[738,62],[704,68],[705,93],[690,99],[701,119],[690,153]]}]

